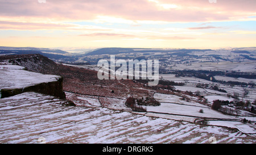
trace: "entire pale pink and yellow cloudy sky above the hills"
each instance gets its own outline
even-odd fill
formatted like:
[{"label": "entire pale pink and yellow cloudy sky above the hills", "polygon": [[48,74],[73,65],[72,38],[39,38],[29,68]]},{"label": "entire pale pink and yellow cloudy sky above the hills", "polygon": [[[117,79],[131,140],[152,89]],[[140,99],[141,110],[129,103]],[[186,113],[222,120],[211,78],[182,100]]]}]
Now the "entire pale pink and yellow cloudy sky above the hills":
[{"label": "entire pale pink and yellow cloudy sky above the hills", "polygon": [[0,46],[256,47],[255,8],[255,0],[0,0]]}]

